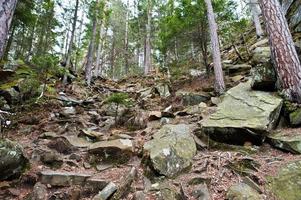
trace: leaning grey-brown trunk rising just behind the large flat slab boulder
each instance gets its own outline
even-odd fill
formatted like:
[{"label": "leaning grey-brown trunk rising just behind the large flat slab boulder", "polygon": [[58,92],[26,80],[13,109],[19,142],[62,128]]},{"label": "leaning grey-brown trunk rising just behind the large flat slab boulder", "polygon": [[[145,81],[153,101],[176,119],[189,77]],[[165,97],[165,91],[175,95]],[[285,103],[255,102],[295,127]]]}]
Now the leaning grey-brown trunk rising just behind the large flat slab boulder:
[{"label": "leaning grey-brown trunk rising just behind the large flat slab boulder", "polygon": [[218,94],[223,94],[226,88],[224,83],[224,75],[223,75],[219,40],[217,34],[217,24],[215,22],[211,0],[205,0],[205,3],[207,6],[208,22],[209,22],[209,29],[210,29],[211,45],[212,45],[212,55],[213,55],[214,74],[215,74],[215,92]]}]

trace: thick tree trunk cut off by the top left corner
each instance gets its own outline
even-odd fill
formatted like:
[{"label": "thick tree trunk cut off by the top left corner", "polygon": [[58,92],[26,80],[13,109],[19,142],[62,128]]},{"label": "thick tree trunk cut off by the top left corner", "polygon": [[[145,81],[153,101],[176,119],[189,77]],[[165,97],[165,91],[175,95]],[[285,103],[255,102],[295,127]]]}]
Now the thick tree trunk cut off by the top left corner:
[{"label": "thick tree trunk cut off by the top left corner", "polygon": [[0,58],[4,54],[7,35],[10,29],[17,0],[0,1]]}]

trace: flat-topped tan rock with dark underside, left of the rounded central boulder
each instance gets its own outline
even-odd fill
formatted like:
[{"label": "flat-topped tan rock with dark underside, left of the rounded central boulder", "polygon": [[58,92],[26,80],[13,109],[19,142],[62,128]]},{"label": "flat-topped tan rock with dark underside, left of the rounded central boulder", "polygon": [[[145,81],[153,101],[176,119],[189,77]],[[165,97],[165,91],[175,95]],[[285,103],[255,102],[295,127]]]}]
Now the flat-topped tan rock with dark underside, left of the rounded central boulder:
[{"label": "flat-topped tan rock with dark underside, left of the rounded central boulder", "polygon": [[103,160],[126,162],[134,151],[134,144],[129,139],[96,142],[89,147],[89,152],[97,154]]}]

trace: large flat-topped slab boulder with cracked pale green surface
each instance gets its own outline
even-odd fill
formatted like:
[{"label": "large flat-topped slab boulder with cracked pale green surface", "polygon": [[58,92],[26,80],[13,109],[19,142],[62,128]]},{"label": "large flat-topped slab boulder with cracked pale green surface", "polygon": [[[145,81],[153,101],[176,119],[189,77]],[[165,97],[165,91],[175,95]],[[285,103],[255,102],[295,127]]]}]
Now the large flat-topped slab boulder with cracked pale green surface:
[{"label": "large flat-topped slab boulder with cracked pale green surface", "polygon": [[261,143],[277,125],[281,108],[281,98],[251,90],[250,82],[241,83],[230,89],[217,111],[201,122],[202,131],[225,143]]}]

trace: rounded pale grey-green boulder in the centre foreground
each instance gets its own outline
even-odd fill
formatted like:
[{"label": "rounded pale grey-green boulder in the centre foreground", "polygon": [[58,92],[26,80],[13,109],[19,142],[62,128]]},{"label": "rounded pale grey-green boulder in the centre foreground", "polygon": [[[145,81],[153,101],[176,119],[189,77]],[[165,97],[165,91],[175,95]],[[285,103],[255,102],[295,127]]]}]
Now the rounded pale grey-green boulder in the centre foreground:
[{"label": "rounded pale grey-green boulder in the centre foreground", "polygon": [[187,169],[196,154],[191,127],[185,124],[165,125],[144,145],[153,168],[160,174],[173,177]]}]

